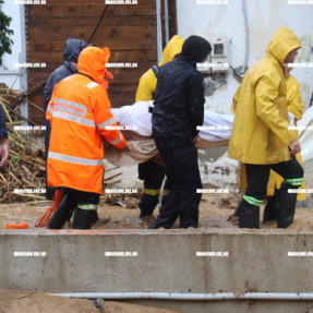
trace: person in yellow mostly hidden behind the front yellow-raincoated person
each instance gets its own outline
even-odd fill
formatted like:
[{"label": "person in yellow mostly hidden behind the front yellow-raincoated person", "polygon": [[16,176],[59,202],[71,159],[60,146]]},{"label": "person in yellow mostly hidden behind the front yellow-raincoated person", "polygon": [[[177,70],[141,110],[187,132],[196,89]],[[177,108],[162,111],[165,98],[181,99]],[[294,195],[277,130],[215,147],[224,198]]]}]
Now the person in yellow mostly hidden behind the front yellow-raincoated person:
[{"label": "person in yellow mostly hidden behind the front yellow-raincoated person", "polygon": [[[297,127],[297,122],[301,120],[303,112],[303,103],[301,98],[300,84],[299,82],[290,74],[292,68],[286,67],[286,86],[287,86],[287,109],[289,115],[289,121],[291,127]],[[299,139],[299,136],[298,136]],[[301,154],[296,155],[297,160],[302,166]],[[263,224],[266,224],[268,220],[277,220],[276,214],[276,192],[280,188],[284,178],[277,174],[275,171],[270,170],[270,176],[267,184],[267,203],[264,208],[263,214]],[[304,189],[305,183],[303,181],[300,189]],[[298,193],[298,201],[305,200],[305,193]]]}]

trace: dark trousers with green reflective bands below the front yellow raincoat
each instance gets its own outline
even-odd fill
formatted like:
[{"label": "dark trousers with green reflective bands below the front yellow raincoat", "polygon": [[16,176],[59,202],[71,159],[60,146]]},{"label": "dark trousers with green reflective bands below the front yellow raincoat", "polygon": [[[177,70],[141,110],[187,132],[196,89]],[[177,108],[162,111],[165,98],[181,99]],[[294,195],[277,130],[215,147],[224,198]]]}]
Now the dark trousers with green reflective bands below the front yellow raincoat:
[{"label": "dark trousers with green reflective bands below the front yellow raincoat", "polygon": [[[249,221],[244,221],[244,212],[250,214],[251,212],[255,212],[255,228],[256,227],[256,217],[257,210],[262,202],[266,196],[267,183],[269,178],[269,171],[273,169],[278,174],[285,178],[285,181],[281,185],[281,190],[287,194],[288,189],[298,189],[303,181],[303,168],[298,162],[294,156],[291,157],[289,161],[282,161],[275,165],[245,165],[246,169],[246,182],[248,188],[245,194],[243,195],[242,202],[240,203],[239,208],[239,227],[249,227]],[[281,192],[282,192],[281,191]],[[297,197],[297,194],[291,193],[291,197]],[[251,209],[251,210],[250,210]],[[240,210],[242,215],[240,215]],[[242,217],[242,218],[240,218]],[[246,216],[245,216],[246,217]],[[252,217],[251,217],[252,218]],[[293,218],[293,217],[292,217]],[[243,222],[241,222],[241,220]],[[254,228],[254,227],[251,227]]]}]

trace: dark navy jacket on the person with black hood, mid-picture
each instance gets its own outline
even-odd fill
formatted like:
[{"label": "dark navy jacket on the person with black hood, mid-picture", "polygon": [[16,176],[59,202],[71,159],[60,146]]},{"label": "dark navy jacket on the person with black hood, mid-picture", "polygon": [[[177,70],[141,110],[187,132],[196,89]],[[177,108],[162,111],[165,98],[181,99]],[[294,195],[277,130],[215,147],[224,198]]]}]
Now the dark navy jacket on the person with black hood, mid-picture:
[{"label": "dark navy jacket on the person with black hood, mid-picture", "polygon": [[153,136],[193,137],[204,117],[203,77],[183,57],[160,68],[153,110]]}]

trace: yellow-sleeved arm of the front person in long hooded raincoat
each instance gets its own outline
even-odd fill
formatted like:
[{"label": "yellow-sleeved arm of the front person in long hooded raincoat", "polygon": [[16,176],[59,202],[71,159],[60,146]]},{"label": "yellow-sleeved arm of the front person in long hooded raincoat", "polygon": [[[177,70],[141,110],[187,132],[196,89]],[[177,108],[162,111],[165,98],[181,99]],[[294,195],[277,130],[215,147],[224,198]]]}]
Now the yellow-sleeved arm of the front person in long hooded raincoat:
[{"label": "yellow-sleeved arm of the front person in long hooded raincoat", "polygon": [[[264,121],[280,141],[290,145],[297,141],[297,133],[289,131],[289,123],[282,119],[276,107],[278,87],[269,76],[263,76],[255,87],[256,115]],[[287,98],[286,98],[287,100]]]}]

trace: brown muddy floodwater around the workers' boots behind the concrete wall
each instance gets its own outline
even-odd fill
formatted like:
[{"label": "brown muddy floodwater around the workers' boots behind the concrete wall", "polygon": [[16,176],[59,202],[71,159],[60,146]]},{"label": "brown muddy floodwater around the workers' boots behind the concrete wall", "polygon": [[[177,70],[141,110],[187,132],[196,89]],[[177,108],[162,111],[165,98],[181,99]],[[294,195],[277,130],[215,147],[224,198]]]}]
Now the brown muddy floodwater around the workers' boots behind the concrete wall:
[{"label": "brown muddy floodwater around the workers' boots behind the concrete wall", "polygon": [[[238,229],[238,226],[228,217],[233,214],[238,204],[238,197],[225,195],[203,196],[200,205],[200,228],[227,228]],[[46,204],[47,205],[47,204]],[[35,228],[36,221],[47,210],[43,204],[2,204],[0,205],[0,229],[5,228],[5,224],[25,221],[29,225],[29,231]],[[155,217],[158,209],[155,210]],[[153,219],[142,220],[139,218],[139,208],[124,208],[121,206],[103,204],[98,206],[98,215],[101,218],[93,228],[94,229],[145,229]],[[261,208],[261,218],[263,216],[263,206]],[[173,228],[179,227],[179,221]],[[276,222],[268,222],[262,228],[276,228]],[[72,228],[65,225],[64,228]],[[297,208],[294,222],[291,229],[313,230],[313,208]]]}]

